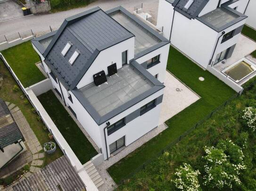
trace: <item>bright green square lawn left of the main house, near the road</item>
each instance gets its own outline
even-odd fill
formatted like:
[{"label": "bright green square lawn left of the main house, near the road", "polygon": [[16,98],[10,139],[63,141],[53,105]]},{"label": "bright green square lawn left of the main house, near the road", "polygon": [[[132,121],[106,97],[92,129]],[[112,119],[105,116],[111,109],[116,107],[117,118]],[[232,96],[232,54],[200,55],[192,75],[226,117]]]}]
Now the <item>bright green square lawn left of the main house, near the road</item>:
[{"label": "bright green square lawn left of the main house, near the road", "polygon": [[2,51],[2,54],[25,87],[45,79],[35,65],[40,59],[30,41],[8,48]]}]

